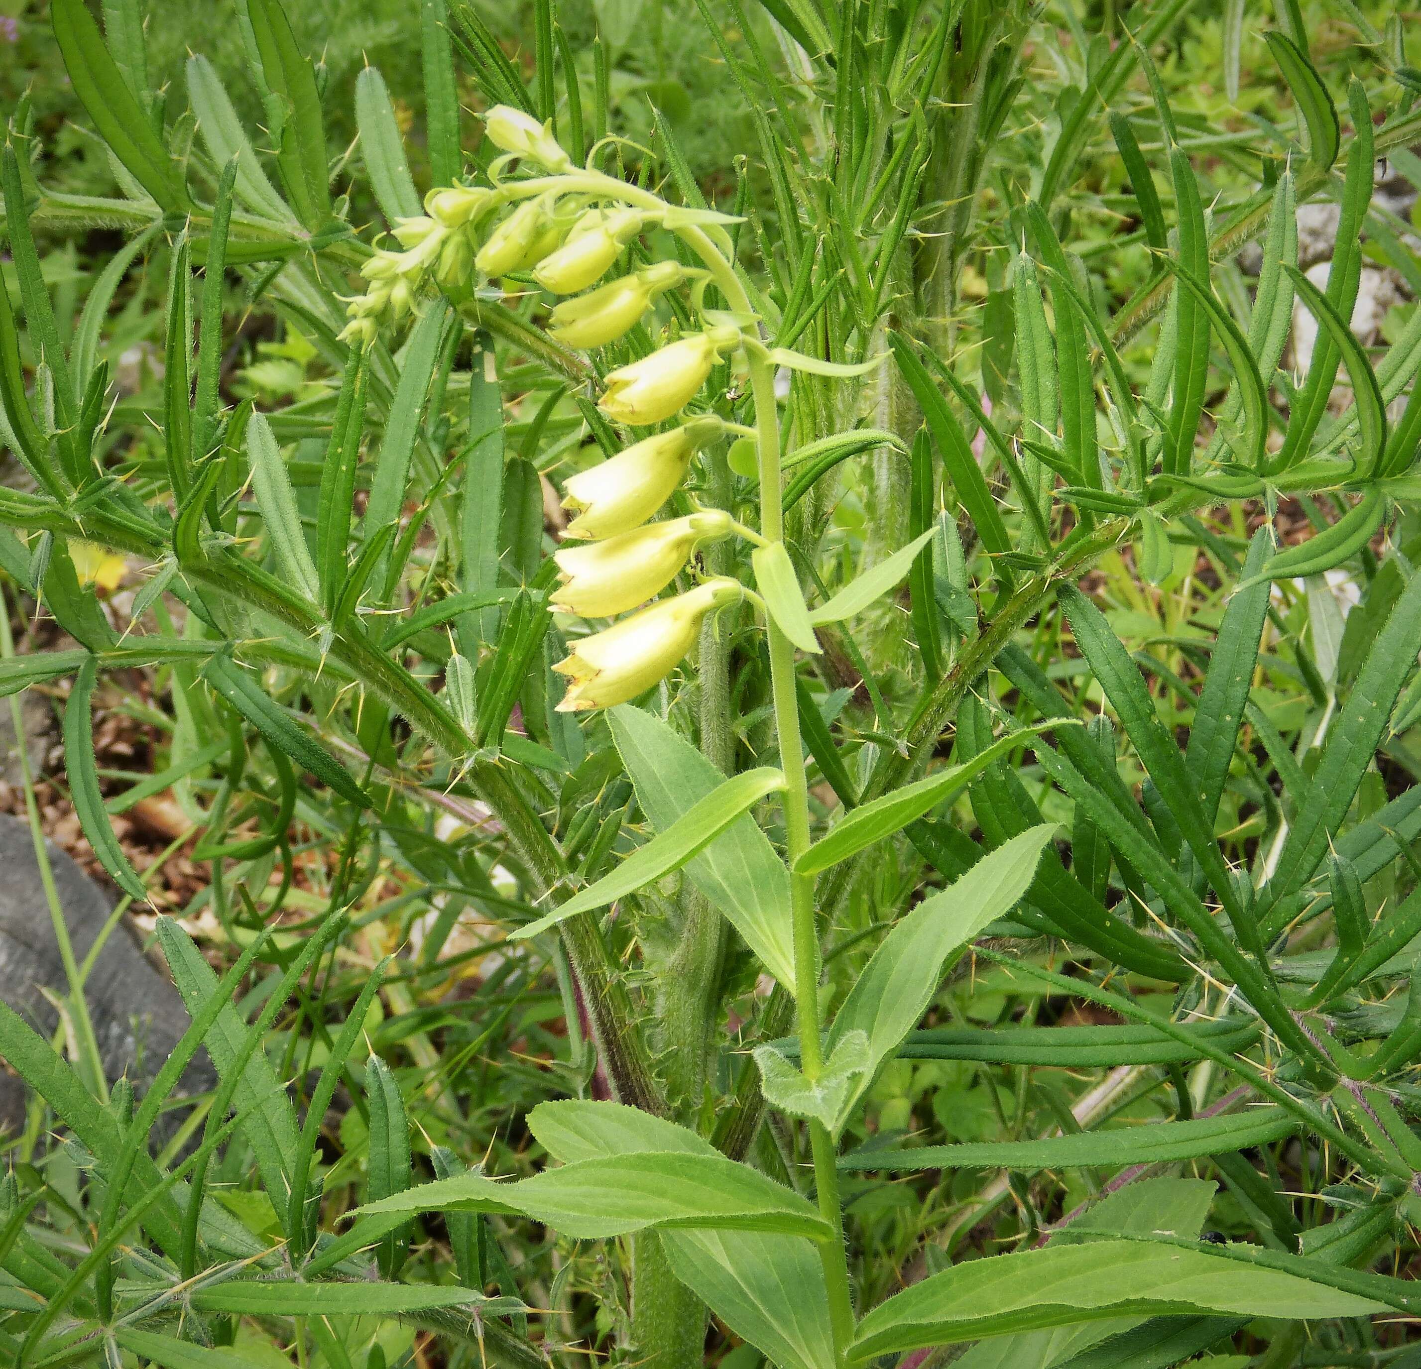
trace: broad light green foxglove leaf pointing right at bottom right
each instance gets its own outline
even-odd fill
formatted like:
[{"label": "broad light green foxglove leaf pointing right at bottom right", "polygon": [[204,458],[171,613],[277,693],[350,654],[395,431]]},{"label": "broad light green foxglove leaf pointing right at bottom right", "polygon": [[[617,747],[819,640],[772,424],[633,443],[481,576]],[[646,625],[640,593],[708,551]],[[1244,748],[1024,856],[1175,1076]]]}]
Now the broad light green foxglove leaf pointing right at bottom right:
[{"label": "broad light green foxglove leaf pointing right at bottom right", "polygon": [[914,1284],[864,1316],[850,1359],[1098,1316],[1368,1316],[1383,1307],[1198,1248],[1100,1240],[972,1260]]}]

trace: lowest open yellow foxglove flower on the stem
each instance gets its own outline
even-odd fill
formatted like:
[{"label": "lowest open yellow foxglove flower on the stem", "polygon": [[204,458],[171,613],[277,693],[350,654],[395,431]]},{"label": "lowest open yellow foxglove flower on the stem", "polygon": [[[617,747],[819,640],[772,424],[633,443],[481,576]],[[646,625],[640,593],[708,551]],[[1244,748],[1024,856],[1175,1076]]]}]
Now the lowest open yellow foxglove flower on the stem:
[{"label": "lowest open yellow foxglove flower on the stem", "polygon": [[567,659],[553,666],[568,679],[558,713],[610,709],[635,699],[665,679],[691,650],[706,613],[743,596],[737,579],[708,579],[574,642]]}]

